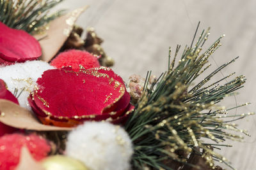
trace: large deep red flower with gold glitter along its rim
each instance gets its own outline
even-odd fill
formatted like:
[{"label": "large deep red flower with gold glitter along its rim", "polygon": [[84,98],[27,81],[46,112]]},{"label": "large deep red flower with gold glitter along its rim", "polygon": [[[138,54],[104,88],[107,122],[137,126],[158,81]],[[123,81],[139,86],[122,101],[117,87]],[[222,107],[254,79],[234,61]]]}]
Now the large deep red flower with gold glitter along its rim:
[{"label": "large deep red flower with gold glitter along its rim", "polygon": [[130,102],[124,81],[107,67],[52,69],[36,82],[38,89],[29,103],[44,124],[69,127],[84,120],[115,119],[124,115]]}]

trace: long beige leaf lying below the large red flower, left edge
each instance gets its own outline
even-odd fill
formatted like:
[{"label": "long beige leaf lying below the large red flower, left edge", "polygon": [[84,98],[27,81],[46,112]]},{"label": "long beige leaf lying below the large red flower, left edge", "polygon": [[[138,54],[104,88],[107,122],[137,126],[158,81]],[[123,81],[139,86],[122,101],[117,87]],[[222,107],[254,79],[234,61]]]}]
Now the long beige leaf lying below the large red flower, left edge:
[{"label": "long beige leaf lying below the large red flower, left edge", "polygon": [[19,129],[34,131],[70,131],[69,127],[56,127],[38,122],[33,113],[11,101],[0,99],[0,122]]}]

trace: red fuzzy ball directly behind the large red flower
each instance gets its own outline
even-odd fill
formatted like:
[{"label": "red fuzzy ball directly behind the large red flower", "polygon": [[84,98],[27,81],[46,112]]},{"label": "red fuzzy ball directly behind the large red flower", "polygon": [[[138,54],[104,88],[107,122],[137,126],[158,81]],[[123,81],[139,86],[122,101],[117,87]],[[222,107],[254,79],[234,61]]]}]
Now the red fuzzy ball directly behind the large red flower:
[{"label": "red fuzzy ball directly behind the large red flower", "polygon": [[67,52],[62,52],[51,61],[51,65],[56,68],[72,66],[74,71],[79,71],[79,65],[83,66],[85,69],[100,67],[97,57],[82,50],[68,50]]}]

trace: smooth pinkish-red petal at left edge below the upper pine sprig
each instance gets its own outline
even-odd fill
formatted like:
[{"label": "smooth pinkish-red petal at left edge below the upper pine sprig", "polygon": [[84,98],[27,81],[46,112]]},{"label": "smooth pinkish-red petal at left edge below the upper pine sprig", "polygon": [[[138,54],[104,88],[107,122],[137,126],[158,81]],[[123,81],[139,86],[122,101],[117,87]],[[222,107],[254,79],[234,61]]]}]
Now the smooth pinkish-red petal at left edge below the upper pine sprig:
[{"label": "smooth pinkish-red petal at left edge below the upper pine sprig", "polygon": [[[35,60],[42,55],[40,44],[27,32],[11,29],[0,22],[0,58],[9,62]],[[3,61],[0,60],[0,63]]]}]

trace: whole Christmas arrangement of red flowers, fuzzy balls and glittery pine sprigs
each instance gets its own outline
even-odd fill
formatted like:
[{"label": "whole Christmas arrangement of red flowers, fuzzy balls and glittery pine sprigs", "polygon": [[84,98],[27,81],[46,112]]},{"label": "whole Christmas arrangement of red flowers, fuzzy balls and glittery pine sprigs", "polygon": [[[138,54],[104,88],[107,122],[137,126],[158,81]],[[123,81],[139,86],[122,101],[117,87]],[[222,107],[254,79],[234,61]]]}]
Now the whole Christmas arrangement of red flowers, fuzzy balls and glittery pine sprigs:
[{"label": "whole Christmas arrangement of red flowers, fuzzy balls and glittery pine sprigs", "polygon": [[217,149],[230,146],[227,139],[241,141],[239,133],[249,136],[232,122],[253,113],[227,115],[250,103],[225,109],[220,102],[246,79],[228,74],[211,82],[237,58],[202,79],[223,36],[203,50],[209,29],[194,43],[198,24],[191,45],[182,53],[178,45],[172,61],[170,48],[165,73],[134,74],[126,90],[120,76],[99,67],[114,63],[103,40],[92,28],[83,40],[75,25],[88,6],[47,17],[58,2],[0,1],[1,169],[222,169],[216,161],[234,169]]}]

